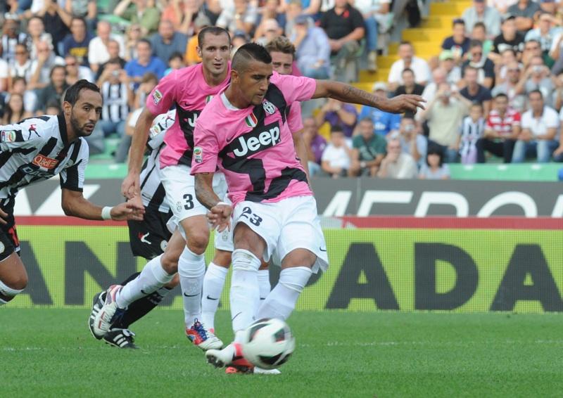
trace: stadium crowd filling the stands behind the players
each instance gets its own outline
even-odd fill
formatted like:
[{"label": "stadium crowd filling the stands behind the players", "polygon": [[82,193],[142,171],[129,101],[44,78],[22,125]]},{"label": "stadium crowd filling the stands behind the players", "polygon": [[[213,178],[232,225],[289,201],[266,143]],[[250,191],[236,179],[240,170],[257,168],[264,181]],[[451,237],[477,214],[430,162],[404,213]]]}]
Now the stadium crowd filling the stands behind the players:
[{"label": "stadium crowd filling the stands behind the players", "polygon": [[[1,124],[61,111],[79,79],[101,87],[91,154],[117,136],[125,162],[159,79],[194,65],[197,33],[217,25],[242,44],[284,34],[293,73],[354,81],[377,70],[385,37],[419,22],[402,0],[6,0],[0,2]],[[414,7],[414,8],[413,8]],[[407,41],[380,96],[419,94],[426,110],[392,115],[329,100],[303,104],[312,175],[446,179],[448,163],[563,161],[563,8],[553,1],[474,0],[430,59]]]}]

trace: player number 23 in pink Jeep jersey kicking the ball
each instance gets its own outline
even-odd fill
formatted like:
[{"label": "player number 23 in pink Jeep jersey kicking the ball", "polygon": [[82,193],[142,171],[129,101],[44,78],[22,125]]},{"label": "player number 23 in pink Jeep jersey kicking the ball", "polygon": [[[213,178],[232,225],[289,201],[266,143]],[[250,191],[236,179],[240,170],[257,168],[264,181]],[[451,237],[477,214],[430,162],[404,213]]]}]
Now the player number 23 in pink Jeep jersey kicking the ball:
[{"label": "player number 23 in pink Jeep jersey kicking the ball", "polygon": [[[348,84],[272,72],[272,58],[258,44],[245,44],[232,60],[231,82],[201,113],[194,129],[196,196],[223,231],[234,228],[231,313],[234,342],[209,349],[215,366],[251,368],[242,358],[243,330],[261,318],[287,319],[312,273],[328,267],[327,246],[315,198],[295,156],[287,107],[311,98],[336,98],[402,113],[422,108],[420,96],[382,98]],[[232,205],[213,191],[224,172]],[[281,260],[276,287],[258,311],[260,257]]]}]

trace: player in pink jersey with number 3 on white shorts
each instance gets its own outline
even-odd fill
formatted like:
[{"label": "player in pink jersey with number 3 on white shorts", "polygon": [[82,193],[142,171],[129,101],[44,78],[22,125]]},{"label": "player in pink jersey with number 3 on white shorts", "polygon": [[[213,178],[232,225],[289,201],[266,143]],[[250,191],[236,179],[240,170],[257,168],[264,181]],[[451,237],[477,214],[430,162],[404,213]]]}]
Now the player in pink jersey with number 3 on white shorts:
[{"label": "player in pink jersey with number 3 on white shorts", "polygon": [[[205,27],[198,34],[198,43],[202,63],[171,72],[148,96],[135,127],[129,173],[122,184],[122,193],[127,198],[140,195],[139,172],[151,123],[156,115],[166,113],[175,105],[175,122],[166,131],[159,174],[173,213],[169,224],[172,229],[177,228],[163,255],[148,262],[137,278],[124,286],[110,286],[106,300],[94,318],[92,332],[96,336],[103,336],[129,304],[169,283],[178,272],[187,337],[201,349],[222,347],[222,341],[213,330],[198,321],[205,274],[203,254],[209,241],[209,227],[205,219],[207,209],[195,195],[190,167],[191,158],[198,156],[193,135],[198,115],[229,82],[231,41],[226,30]],[[216,187],[220,184],[217,177],[220,175],[215,178]]]}]

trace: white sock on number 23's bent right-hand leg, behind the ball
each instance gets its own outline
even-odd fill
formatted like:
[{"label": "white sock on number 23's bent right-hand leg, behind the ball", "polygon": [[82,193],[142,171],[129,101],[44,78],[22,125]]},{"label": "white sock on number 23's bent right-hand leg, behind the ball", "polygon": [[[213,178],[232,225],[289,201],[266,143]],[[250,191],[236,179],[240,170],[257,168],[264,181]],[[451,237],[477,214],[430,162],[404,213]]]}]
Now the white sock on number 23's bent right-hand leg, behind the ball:
[{"label": "white sock on number 23's bent right-hand leg, behind the ball", "polygon": [[287,319],[293,309],[301,291],[307,285],[312,271],[309,267],[291,267],[282,269],[279,282],[262,302],[256,319],[278,318]]}]

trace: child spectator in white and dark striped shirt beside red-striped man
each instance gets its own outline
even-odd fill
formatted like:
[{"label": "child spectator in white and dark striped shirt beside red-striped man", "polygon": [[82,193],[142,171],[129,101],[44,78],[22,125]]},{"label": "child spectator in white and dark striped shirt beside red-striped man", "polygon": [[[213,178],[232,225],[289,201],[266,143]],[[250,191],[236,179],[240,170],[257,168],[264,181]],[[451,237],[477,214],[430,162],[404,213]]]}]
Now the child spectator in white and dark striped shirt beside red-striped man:
[{"label": "child spectator in white and dark striped shirt beside red-striped man", "polygon": [[481,139],[484,131],[483,105],[478,102],[472,103],[469,115],[462,121],[456,144],[462,164],[473,165],[477,161],[477,141]]}]

